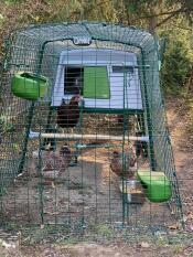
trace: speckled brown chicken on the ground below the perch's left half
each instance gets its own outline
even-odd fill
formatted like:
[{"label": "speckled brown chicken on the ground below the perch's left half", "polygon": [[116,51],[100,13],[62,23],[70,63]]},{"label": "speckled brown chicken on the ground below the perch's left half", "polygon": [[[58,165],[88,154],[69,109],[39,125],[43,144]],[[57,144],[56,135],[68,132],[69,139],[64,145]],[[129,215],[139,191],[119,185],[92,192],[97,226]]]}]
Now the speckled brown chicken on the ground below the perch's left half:
[{"label": "speckled brown chicken on the ground below the perch's left half", "polygon": [[53,184],[52,179],[60,178],[66,171],[71,159],[71,150],[65,146],[56,151],[46,151],[43,157],[44,167],[42,169],[42,175],[45,179],[44,184]]}]

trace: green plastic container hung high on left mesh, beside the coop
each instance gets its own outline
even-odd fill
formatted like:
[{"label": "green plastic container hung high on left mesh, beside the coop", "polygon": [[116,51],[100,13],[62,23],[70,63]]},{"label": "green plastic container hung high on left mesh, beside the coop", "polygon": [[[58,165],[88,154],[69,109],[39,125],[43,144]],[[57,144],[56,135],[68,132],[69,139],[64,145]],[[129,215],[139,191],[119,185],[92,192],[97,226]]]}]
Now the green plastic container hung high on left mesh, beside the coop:
[{"label": "green plastic container hung high on left mesh, beside the coop", "polygon": [[47,88],[49,79],[34,73],[18,72],[12,78],[11,90],[13,95],[28,100],[43,98]]}]

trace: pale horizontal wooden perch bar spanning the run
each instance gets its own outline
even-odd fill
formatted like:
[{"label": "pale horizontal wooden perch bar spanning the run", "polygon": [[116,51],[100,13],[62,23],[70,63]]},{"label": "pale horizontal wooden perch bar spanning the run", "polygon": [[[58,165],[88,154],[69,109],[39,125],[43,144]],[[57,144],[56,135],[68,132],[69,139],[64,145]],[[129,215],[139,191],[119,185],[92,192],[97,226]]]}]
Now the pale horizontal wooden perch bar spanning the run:
[{"label": "pale horizontal wooden perch bar spanning the run", "polygon": [[[79,133],[40,133],[31,131],[30,138],[64,138],[64,139],[93,139],[93,140],[117,140],[121,141],[124,136],[108,136],[108,135],[79,135]],[[136,136],[125,136],[126,140],[130,141],[149,141],[149,137],[136,137]]]}]

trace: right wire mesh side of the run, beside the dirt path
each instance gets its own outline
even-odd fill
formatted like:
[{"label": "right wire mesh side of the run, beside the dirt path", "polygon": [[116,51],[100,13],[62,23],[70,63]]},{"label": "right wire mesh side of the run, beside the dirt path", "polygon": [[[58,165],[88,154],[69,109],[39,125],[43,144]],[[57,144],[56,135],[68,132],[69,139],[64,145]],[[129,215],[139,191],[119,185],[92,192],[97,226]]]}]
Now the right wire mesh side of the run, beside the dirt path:
[{"label": "right wire mesh side of the run, beside the dirt path", "polygon": [[156,170],[163,171],[170,180],[173,193],[170,204],[172,206],[173,213],[175,213],[176,216],[181,218],[182,208],[173,160],[173,150],[160,88],[158,52],[152,49],[146,55],[144,62],[146,64],[150,65],[150,68],[146,69],[146,83],[148,93],[147,97],[150,107],[149,118],[152,120],[151,129]]}]

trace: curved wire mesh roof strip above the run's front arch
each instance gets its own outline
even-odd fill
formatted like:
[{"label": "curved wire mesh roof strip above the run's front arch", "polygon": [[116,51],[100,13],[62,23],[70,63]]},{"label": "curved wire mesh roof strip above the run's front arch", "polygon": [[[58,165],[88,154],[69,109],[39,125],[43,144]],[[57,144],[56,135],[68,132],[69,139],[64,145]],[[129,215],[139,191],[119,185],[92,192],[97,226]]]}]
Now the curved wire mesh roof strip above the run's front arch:
[{"label": "curved wire mesh roof strip above the run's front arch", "polygon": [[17,38],[31,38],[33,41],[43,44],[44,42],[56,42],[71,40],[74,36],[88,36],[98,41],[110,41],[140,47],[149,52],[154,47],[153,36],[143,30],[133,26],[124,26],[107,23],[78,22],[45,24],[29,26],[17,33]]}]

